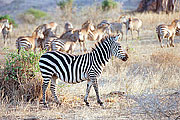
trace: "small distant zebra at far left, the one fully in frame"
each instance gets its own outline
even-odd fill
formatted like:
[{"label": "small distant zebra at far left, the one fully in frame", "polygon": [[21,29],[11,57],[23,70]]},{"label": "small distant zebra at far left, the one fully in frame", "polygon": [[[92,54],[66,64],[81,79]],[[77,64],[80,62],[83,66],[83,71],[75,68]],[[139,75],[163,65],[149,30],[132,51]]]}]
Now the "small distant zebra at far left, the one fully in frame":
[{"label": "small distant zebra at far left, the one fully in frame", "polygon": [[12,23],[6,24],[4,26],[4,28],[2,29],[2,34],[3,34],[3,38],[4,38],[4,44],[6,44],[6,40],[8,38],[11,39],[10,33],[12,32],[12,29],[13,29]]}]

